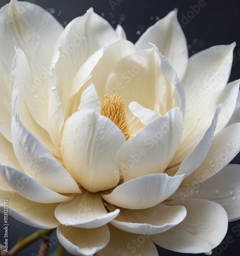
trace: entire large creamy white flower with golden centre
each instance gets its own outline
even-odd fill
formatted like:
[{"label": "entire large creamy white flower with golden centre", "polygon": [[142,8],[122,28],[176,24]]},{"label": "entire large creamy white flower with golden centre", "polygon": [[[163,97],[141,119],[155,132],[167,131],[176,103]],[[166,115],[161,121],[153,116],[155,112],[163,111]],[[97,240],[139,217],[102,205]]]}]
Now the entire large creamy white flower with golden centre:
[{"label": "entire large creamy white flower with golden centre", "polygon": [[64,30],[1,9],[2,211],[73,255],[208,253],[240,217],[235,45],[188,59],[176,11],[124,38],[92,9]]}]

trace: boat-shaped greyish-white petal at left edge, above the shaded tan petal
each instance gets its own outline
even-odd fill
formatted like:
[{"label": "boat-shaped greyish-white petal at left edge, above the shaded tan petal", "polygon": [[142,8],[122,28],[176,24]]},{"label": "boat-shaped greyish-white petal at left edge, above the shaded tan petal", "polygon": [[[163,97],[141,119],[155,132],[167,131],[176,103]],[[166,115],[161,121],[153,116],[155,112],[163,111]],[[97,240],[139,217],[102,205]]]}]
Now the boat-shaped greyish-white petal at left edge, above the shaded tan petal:
[{"label": "boat-shaped greyish-white petal at left edge, above the shaded tan petal", "polygon": [[16,193],[28,200],[49,204],[68,199],[10,166],[0,164],[0,175]]}]

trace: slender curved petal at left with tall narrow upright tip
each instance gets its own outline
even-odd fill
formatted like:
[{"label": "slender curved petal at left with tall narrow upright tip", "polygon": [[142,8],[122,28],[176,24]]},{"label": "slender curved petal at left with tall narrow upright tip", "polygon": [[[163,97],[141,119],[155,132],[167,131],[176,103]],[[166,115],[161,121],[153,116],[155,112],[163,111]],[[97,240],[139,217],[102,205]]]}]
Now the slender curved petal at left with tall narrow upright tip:
[{"label": "slender curved petal at left with tall narrow upright tip", "polygon": [[16,157],[25,173],[59,193],[79,193],[79,187],[66,169],[25,128],[18,116],[17,87],[13,89],[12,140]]}]

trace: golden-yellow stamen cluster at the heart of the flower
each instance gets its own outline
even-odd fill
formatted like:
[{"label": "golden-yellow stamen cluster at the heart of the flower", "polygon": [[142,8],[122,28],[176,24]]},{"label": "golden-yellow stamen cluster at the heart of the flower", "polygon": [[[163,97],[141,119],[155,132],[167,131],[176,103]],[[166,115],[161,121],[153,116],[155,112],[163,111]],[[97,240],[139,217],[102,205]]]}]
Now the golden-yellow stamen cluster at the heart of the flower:
[{"label": "golden-yellow stamen cluster at the heart of the flower", "polygon": [[117,94],[104,95],[101,102],[101,115],[113,121],[124,134],[126,140],[129,139],[129,126],[124,109],[124,99]]}]

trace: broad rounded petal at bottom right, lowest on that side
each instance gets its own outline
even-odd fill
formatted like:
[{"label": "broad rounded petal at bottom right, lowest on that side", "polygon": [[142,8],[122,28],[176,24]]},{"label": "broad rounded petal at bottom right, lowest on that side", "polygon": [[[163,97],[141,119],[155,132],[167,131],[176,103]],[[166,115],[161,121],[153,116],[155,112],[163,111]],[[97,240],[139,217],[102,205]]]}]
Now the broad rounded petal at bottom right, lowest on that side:
[{"label": "broad rounded petal at bottom right, lowest on that side", "polygon": [[183,205],[186,218],[176,227],[151,236],[157,245],[183,253],[209,253],[225,237],[228,227],[224,208],[214,202],[200,199],[175,200],[169,205]]}]

